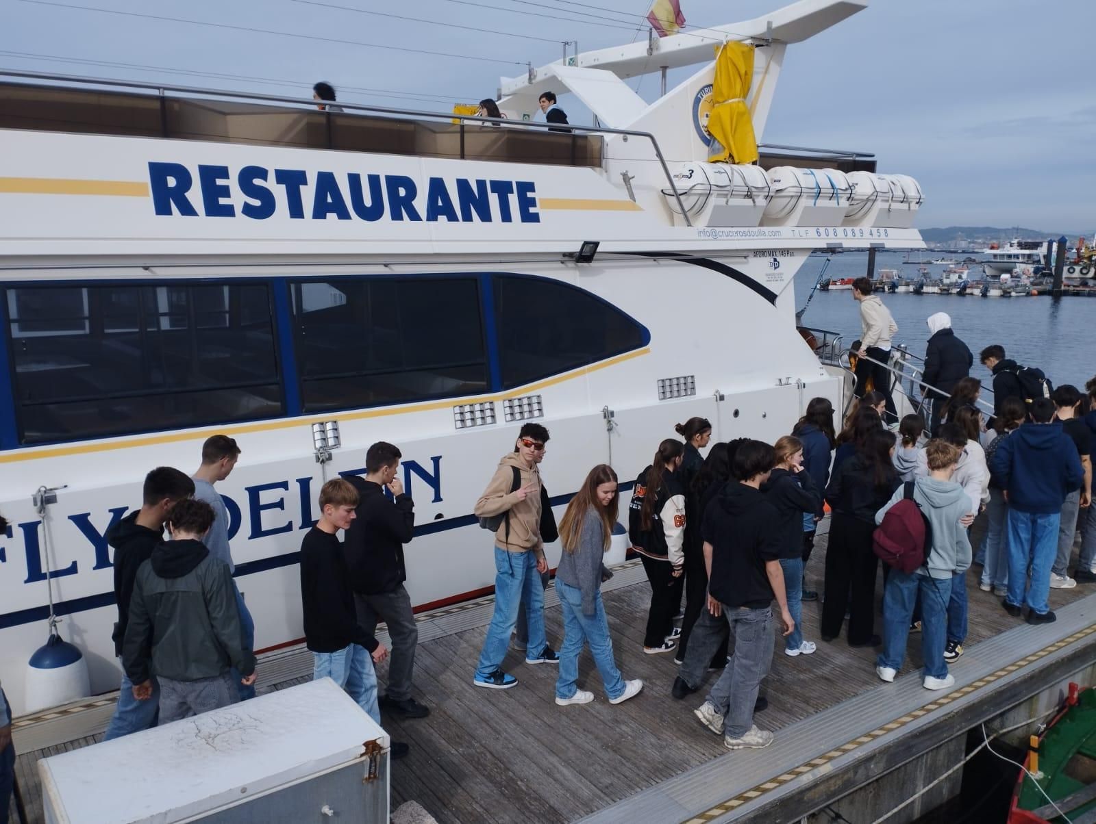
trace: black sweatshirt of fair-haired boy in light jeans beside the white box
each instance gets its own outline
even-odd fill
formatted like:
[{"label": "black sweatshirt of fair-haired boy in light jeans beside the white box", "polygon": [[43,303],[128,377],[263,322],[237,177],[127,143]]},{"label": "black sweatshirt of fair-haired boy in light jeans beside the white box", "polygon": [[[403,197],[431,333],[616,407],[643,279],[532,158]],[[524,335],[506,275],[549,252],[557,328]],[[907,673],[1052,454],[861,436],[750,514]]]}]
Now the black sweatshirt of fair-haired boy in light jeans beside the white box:
[{"label": "black sweatshirt of fair-haired boy in light jeans beside the white box", "polygon": [[305,643],[312,652],[338,652],[352,643],[377,649],[377,639],[357,622],[342,543],[318,526],[300,542],[300,599]]}]

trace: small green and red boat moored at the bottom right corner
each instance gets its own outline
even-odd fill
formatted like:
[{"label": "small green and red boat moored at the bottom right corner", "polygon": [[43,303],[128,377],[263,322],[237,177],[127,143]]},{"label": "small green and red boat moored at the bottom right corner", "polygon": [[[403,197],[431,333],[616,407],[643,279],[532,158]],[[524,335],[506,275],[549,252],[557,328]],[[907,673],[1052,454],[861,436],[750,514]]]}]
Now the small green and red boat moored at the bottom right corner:
[{"label": "small green and red boat moored at the bottom right corner", "polygon": [[1065,706],[1039,736],[1038,748],[1028,752],[1024,769],[1008,824],[1096,817],[1096,691],[1070,684]]}]

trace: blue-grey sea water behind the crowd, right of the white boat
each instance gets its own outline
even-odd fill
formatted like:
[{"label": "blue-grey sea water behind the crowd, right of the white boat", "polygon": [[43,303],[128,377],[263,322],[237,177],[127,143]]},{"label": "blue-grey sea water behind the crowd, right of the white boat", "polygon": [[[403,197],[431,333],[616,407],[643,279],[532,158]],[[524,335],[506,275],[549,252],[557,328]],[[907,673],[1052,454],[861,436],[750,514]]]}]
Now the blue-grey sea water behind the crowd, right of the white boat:
[{"label": "blue-grey sea water behind the crowd, right of the white boat", "polygon": [[[916,252],[913,253],[916,256]],[[927,261],[933,252],[924,252]],[[898,270],[899,276],[916,281],[917,266],[903,265],[905,252],[880,251],[876,258],[879,270]],[[946,255],[955,259],[957,255]],[[959,255],[961,259],[962,255]],[[825,259],[811,256],[796,275],[796,308],[807,304]],[[859,277],[867,273],[867,252],[845,252],[834,255],[826,268],[827,278]],[[943,266],[929,266],[928,277],[938,279]],[[970,264],[970,274],[981,277],[981,266]],[[890,309],[898,324],[895,344],[905,344],[910,352],[925,356],[928,341],[928,316],[947,312],[951,329],[962,339],[974,356],[970,374],[990,386],[990,370],[978,360],[979,352],[990,344],[1005,347],[1007,356],[1021,366],[1038,366],[1054,386],[1073,384],[1085,391],[1085,381],[1096,377],[1096,298],[1047,295],[990,298],[978,295],[914,295],[876,293]],[[859,307],[850,290],[815,291],[801,324],[843,334],[847,348],[860,336]]]}]

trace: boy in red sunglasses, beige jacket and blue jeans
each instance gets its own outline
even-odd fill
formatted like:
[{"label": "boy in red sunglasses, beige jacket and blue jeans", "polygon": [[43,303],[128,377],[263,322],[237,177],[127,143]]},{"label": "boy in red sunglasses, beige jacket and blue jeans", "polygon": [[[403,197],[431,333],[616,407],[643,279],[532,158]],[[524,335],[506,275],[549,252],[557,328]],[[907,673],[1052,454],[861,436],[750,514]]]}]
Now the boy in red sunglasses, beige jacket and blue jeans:
[{"label": "boy in red sunglasses, beige jacket and blue jeans", "polygon": [[559,662],[545,636],[545,599],[540,582],[541,573],[548,571],[548,562],[540,538],[540,473],[537,465],[544,458],[547,442],[548,430],[540,424],[526,423],[522,426],[516,448],[499,461],[494,477],[476,502],[477,517],[500,522],[494,530],[494,615],[476,667],[472,683],[477,687],[509,689],[517,685],[513,675],[503,672],[502,661],[523,600],[529,630],[525,663]]}]

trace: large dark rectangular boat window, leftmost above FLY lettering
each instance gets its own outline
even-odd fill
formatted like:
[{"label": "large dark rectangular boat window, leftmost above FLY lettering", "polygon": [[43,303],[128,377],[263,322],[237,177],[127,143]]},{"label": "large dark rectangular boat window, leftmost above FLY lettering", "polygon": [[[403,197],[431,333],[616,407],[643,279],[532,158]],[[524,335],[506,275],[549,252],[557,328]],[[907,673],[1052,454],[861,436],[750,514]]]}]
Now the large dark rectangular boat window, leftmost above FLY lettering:
[{"label": "large dark rectangular boat window, leftmost above FLY lettering", "polygon": [[263,284],[25,287],[5,301],[22,443],[282,413]]}]

